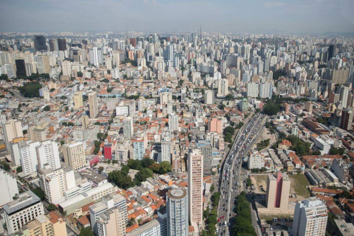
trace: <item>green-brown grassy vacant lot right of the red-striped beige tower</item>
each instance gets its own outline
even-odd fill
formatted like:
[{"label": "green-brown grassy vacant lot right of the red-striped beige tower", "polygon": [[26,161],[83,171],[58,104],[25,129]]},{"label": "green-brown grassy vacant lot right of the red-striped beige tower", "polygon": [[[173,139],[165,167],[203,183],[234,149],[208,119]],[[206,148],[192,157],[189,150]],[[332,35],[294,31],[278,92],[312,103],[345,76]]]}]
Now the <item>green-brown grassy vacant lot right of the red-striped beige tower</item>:
[{"label": "green-brown grassy vacant lot right of the red-striped beige tower", "polygon": [[290,194],[295,193],[297,201],[304,200],[310,197],[310,192],[306,186],[310,185],[310,182],[304,174],[289,175],[291,180]]}]

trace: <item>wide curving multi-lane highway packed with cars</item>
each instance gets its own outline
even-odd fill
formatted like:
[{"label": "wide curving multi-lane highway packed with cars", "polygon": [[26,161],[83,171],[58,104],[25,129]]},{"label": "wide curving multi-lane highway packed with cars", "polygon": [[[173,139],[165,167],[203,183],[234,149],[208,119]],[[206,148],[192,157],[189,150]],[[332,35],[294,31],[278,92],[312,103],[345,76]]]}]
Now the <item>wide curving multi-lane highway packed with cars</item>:
[{"label": "wide curving multi-lane highway packed with cars", "polygon": [[[229,236],[232,232],[232,218],[234,217],[233,206],[235,198],[242,191],[242,185],[247,178],[246,170],[242,169],[242,161],[249,152],[257,138],[264,130],[266,115],[256,114],[238,132],[233,146],[225,159],[219,191],[221,192],[218,206],[217,234]],[[257,229],[255,229],[258,232]],[[232,234],[231,234],[232,235]]]}]

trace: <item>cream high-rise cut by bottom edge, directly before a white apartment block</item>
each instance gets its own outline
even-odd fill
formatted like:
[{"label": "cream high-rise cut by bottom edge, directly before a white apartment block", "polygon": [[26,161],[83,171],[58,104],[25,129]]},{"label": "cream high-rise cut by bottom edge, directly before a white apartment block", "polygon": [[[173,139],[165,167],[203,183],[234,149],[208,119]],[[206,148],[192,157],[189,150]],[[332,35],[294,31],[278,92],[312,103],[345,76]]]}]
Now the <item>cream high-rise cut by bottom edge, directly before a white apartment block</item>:
[{"label": "cream high-rise cut by bottom edge, directly before a white apartment block", "polygon": [[103,212],[97,219],[98,236],[124,236],[125,212],[120,207],[113,207]]}]

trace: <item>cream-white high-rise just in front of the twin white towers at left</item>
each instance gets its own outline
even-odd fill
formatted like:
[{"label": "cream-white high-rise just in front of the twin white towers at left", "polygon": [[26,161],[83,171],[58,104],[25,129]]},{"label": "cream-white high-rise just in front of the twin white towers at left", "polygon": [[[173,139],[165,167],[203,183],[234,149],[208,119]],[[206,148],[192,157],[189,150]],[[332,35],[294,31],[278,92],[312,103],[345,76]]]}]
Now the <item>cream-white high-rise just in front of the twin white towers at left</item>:
[{"label": "cream-white high-rise just in front of the twin white towers at left", "polygon": [[38,178],[45,199],[53,204],[64,201],[64,192],[76,186],[74,169],[69,166],[53,170],[49,165],[44,165],[38,170]]}]

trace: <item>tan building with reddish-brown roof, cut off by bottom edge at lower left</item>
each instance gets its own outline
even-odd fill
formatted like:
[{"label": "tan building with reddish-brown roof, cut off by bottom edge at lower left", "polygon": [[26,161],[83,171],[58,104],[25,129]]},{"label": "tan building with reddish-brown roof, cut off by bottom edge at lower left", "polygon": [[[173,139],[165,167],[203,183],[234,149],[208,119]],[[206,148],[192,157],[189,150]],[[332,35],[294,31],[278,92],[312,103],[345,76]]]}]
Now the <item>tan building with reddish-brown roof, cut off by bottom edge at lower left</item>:
[{"label": "tan building with reddish-brown roof, cut off by bottom edge at lower left", "polygon": [[39,215],[26,225],[31,236],[68,235],[65,220],[51,211],[47,215]]}]

